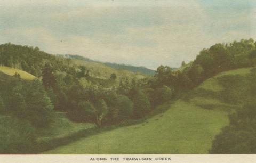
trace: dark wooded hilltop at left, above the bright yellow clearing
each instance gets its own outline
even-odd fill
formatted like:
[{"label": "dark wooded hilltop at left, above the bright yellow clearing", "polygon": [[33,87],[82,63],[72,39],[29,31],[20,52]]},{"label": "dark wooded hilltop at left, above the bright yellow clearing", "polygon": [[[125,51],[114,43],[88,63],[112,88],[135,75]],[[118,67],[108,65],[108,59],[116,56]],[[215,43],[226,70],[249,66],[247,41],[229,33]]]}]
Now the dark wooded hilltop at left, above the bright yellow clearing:
[{"label": "dark wooded hilltop at left, above the bright yellow clearing", "polygon": [[[51,63],[56,71],[73,71],[70,59],[45,53],[38,47],[22,46],[11,43],[0,45],[0,65],[21,69],[30,74],[41,77],[45,63]],[[70,70],[71,69],[71,70]]]}]

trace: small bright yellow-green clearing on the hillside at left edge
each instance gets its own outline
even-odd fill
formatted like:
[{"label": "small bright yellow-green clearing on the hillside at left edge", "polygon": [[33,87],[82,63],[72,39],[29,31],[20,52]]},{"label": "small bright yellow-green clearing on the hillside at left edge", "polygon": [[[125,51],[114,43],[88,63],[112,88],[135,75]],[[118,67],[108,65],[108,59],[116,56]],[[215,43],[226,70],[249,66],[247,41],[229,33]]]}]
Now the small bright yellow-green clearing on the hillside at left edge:
[{"label": "small bright yellow-green clearing on the hillside at left edge", "polygon": [[17,72],[18,74],[20,74],[20,77],[24,80],[34,80],[36,78],[35,76],[29,74],[28,72],[6,67],[6,66],[0,66],[0,72],[3,72],[4,74],[10,75],[10,76],[13,76],[15,72]]}]

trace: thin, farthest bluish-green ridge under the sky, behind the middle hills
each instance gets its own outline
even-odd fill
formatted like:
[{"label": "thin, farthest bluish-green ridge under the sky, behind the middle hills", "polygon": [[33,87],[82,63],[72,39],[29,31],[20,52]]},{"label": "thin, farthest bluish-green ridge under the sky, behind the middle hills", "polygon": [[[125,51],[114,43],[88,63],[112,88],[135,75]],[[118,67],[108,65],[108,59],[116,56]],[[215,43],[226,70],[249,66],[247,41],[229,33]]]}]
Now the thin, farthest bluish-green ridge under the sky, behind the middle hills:
[{"label": "thin, farthest bluish-green ridge under the sky, behind the middle hills", "polygon": [[110,63],[110,62],[100,62],[100,61],[91,60],[89,58],[86,58],[86,57],[80,56],[80,55],[57,54],[57,56],[64,56],[65,58],[83,60],[83,61],[86,61],[86,62],[103,63],[106,66],[109,66],[109,67],[114,68],[114,69],[124,69],[124,70],[129,70],[129,71],[132,71],[132,72],[141,72],[142,74],[150,75],[150,76],[155,75],[155,70],[151,70],[151,69],[148,69],[146,67],[131,66],[129,64],[117,64],[117,63]]}]

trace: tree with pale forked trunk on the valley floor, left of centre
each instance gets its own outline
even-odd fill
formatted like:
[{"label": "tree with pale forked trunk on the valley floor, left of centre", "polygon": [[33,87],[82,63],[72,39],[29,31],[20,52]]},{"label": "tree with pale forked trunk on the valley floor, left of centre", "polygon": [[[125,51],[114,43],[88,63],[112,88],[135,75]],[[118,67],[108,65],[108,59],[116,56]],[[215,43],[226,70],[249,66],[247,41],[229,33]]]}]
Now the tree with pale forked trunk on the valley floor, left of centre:
[{"label": "tree with pale forked trunk on the valley floor, left of centre", "polygon": [[84,109],[87,114],[94,117],[94,124],[97,127],[102,127],[102,120],[106,117],[108,113],[108,107],[106,102],[101,99],[96,104],[91,102],[80,102],[79,107]]}]

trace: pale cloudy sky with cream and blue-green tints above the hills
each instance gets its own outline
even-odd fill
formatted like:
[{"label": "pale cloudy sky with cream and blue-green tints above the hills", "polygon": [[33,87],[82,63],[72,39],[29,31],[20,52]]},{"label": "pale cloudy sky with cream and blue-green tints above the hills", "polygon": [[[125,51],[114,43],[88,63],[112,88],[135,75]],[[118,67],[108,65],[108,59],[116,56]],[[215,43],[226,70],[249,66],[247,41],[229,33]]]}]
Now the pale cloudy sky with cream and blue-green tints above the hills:
[{"label": "pale cloudy sky with cream and blue-green tints above the hills", "polygon": [[203,48],[248,38],[254,0],[0,0],[0,44],[103,62],[179,67]]}]

